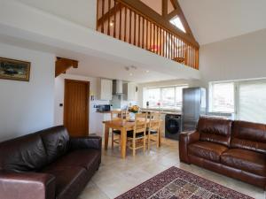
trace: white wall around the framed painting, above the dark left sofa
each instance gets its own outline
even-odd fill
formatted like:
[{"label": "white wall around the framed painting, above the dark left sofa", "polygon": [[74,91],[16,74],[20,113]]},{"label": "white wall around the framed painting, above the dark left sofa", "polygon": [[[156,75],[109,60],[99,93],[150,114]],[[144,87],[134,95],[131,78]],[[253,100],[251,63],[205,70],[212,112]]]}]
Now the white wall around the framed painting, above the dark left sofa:
[{"label": "white wall around the framed painting, above the dark left sofa", "polygon": [[0,141],[53,126],[55,56],[0,43],[0,57],[31,62],[29,82],[0,79]]}]

